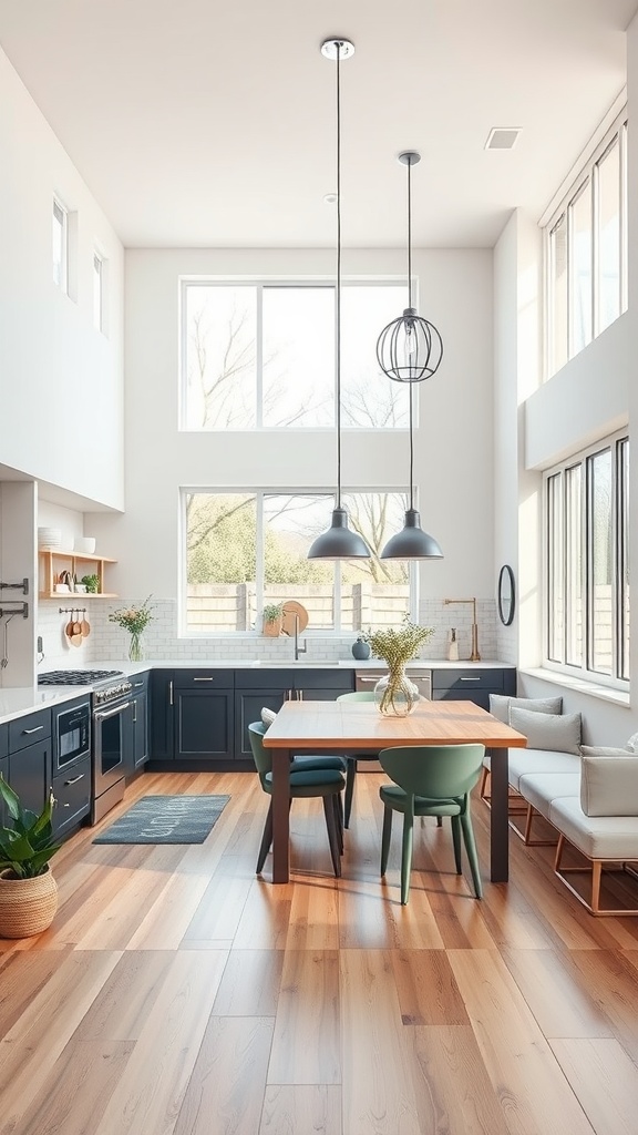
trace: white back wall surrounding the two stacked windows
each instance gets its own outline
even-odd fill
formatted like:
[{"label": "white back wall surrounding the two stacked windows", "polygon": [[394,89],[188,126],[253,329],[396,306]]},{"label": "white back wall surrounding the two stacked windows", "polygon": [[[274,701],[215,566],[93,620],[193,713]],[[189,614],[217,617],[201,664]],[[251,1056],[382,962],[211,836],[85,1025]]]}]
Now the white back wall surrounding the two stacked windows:
[{"label": "white back wall surrounding the two stacked windows", "polygon": [[[344,277],[403,279],[404,259],[403,251],[345,251]],[[419,504],[423,527],[445,554],[442,562],[422,565],[422,595],[493,600],[492,253],[415,251],[413,266],[420,311],[445,344],[439,371],[420,388]],[[119,561],[118,591],[177,594],[181,485],[334,486],[330,431],[178,434],[179,276],[334,278],[334,252],[312,249],[126,253],[126,514],[87,520],[100,547]],[[349,435],[343,457],[344,486],[408,482],[404,432]]]}]

